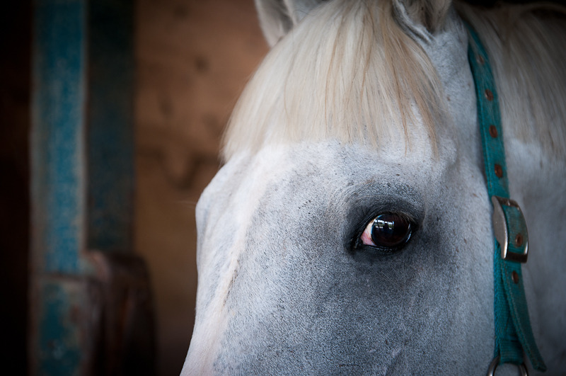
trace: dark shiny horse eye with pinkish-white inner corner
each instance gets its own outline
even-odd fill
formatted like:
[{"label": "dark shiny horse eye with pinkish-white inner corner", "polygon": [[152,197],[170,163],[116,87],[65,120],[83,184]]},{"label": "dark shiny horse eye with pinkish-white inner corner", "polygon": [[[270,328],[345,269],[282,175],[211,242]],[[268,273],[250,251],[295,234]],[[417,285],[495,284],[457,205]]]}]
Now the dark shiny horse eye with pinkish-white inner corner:
[{"label": "dark shiny horse eye with pinkish-white inner corner", "polygon": [[412,224],[405,215],[385,213],[367,224],[360,240],[366,246],[395,249],[411,237]]}]

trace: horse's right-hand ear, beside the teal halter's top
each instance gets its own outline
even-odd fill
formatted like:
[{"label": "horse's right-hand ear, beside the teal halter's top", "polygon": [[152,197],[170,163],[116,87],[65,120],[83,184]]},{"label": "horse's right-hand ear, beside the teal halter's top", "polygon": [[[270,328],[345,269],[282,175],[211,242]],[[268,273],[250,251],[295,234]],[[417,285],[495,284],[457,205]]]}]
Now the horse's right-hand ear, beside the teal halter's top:
[{"label": "horse's right-hand ear, beside the teal halter's top", "polygon": [[393,0],[393,12],[403,28],[428,39],[444,25],[451,4],[451,0]]}]

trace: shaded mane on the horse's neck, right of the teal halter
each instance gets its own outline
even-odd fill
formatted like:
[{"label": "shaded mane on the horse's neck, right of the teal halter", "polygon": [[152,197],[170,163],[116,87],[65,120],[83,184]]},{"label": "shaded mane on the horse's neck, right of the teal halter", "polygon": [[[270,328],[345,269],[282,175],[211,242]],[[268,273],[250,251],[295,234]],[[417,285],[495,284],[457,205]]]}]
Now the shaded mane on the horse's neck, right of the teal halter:
[{"label": "shaded mane on the horse's neck, right of the teal halter", "polygon": [[497,81],[505,130],[537,140],[557,156],[566,152],[566,9],[552,4],[499,6],[457,4],[478,30]]}]

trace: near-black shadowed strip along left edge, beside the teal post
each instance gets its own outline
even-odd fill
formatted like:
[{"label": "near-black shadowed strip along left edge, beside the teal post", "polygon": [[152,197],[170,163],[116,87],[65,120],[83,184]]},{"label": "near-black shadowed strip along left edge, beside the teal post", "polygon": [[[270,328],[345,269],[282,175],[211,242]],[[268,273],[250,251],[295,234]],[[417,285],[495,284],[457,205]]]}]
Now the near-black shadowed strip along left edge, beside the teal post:
[{"label": "near-black shadowed strip along left edge, beside the teal post", "polygon": [[31,2],[0,13],[0,286],[5,375],[25,375],[28,312]]}]

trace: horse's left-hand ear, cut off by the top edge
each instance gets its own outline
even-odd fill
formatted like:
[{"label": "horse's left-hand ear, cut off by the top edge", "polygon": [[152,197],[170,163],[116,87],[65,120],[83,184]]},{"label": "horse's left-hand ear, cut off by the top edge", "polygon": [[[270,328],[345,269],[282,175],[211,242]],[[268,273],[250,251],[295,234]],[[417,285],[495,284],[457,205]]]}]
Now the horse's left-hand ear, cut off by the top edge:
[{"label": "horse's left-hand ear, cut off by the top edge", "polygon": [[324,0],[255,0],[260,26],[270,46]]}]

